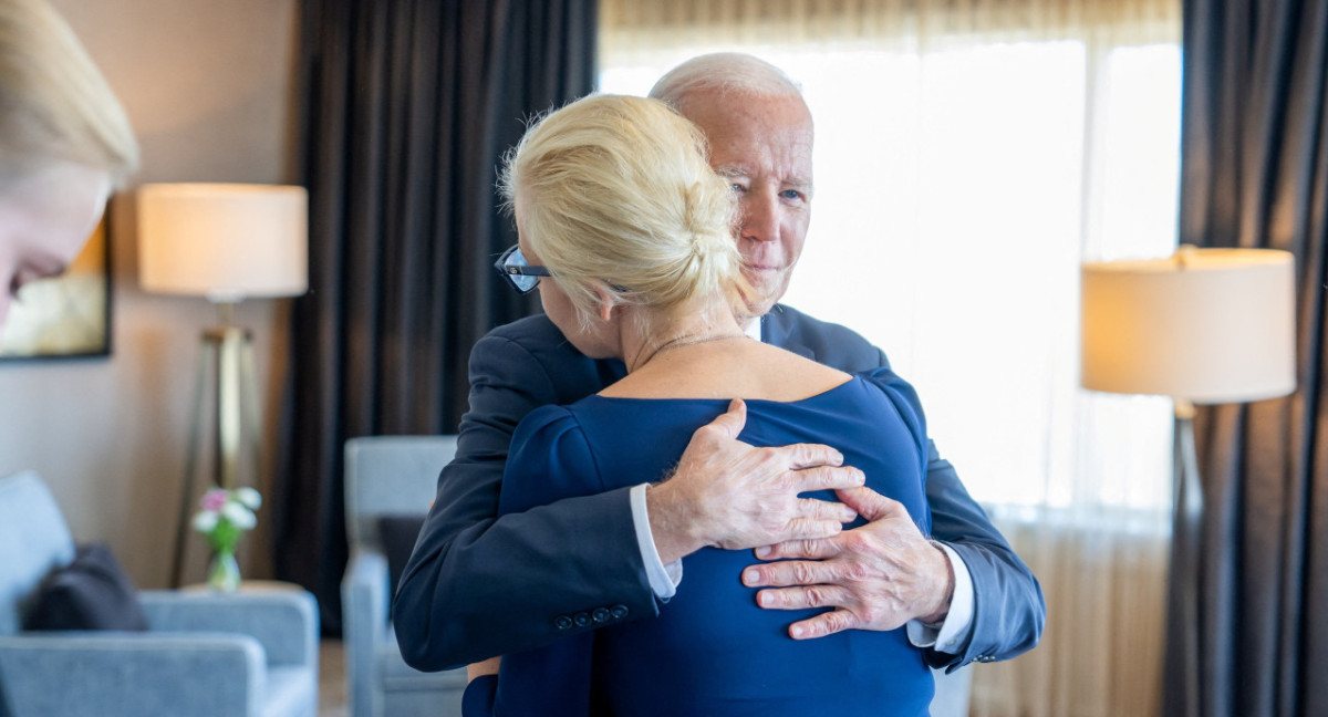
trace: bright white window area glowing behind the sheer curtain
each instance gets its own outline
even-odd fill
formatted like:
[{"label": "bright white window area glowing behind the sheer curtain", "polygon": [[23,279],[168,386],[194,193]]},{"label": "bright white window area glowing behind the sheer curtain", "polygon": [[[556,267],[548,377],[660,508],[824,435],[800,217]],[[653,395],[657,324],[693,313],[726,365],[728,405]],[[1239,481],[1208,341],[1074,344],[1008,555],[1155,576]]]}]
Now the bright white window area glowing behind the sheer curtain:
[{"label": "bright white window area glowing behind the sheer curtain", "polygon": [[645,94],[717,49],[788,70],[817,123],[817,194],[785,303],[882,347],[997,513],[1165,515],[1170,401],[1078,388],[1078,266],[1174,250],[1179,49],[1052,35],[653,54],[606,39],[600,90]]}]

